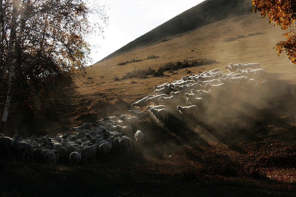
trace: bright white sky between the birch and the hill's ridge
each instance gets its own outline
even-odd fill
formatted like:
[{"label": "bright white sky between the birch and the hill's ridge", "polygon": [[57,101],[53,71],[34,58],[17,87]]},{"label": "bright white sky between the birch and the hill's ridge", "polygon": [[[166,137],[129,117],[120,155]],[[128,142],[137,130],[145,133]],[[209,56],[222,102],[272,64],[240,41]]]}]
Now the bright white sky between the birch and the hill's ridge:
[{"label": "bright white sky between the birch and the hill's ridge", "polygon": [[[104,38],[92,38],[91,64],[204,0],[101,0],[110,8]],[[90,64],[90,65],[91,65]]]}]

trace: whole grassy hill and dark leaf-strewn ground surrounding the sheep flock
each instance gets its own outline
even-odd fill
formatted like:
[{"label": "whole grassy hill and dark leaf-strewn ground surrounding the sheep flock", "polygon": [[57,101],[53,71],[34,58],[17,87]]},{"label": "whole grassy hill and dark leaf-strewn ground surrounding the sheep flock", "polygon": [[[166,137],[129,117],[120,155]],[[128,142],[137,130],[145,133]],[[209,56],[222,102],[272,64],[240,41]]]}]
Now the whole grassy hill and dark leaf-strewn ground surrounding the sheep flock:
[{"label": "whole grassy hill and dark leaf-strewn ground surrounding the sheep flock", "polygon": [[[224,100],[201,112],[200,121],[184,123],[173,107],[168,123],[157,125],[149,115],[139,126],[142,147],[133,139],[131,154],[97,157],[95,164],[4,163],[0,195],[49,196],[54,190],[59,196],[295,196],[295,66],[273,49],[282,30],[251,14],[248,4],[207,0],[88,67],[76,82],[77,95],[69,96],[74,100],[65,98],[59,121],[44,123],[40,133],[53,136],[127,113],[155,85],[214,68],[225,71],[229,63],[262,65],[267,80],[255,95]],[[197,59],[212,63],[122,79],[135,69]],[[123,62],[128,63],[118,65]]]}]

